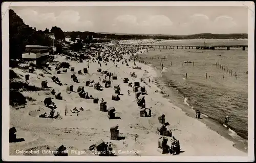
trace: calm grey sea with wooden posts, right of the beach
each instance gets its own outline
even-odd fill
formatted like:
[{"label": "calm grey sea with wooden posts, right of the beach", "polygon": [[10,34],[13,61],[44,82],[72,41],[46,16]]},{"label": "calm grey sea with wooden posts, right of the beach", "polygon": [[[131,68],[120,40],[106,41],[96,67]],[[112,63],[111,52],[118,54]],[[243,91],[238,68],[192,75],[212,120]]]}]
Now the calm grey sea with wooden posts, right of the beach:
[{"label": "calm grey sea with wooden posts, right of the beach", "polygon": [[[247,40],[175,40],[156,44],[247,45]],[[230,115],[228,127],[247,139],[247,48],[245,51],[242,51],[242,48],[230,48],[230,51],[226,49],[156,49],[148,51],[147,54],[142,54],[140,57],[155,57],[156,59],[143,60],[150,62],[159,71],[161,63],[164,65],[158,80],[164,82],[165,86],[170,89],[176,90],[176,92],[168,92],[173,103],[184,103],[186,98],[186,105],[193,106],[195,110],[199,109],[209,119],[220,123],[224,122],[224,117]],[[159,59],[157,59],[158,57]],[[166,58],[161,59],[163,57]],[[184,61],[194,62],[194,65],[193,63],[184,63]]]}]

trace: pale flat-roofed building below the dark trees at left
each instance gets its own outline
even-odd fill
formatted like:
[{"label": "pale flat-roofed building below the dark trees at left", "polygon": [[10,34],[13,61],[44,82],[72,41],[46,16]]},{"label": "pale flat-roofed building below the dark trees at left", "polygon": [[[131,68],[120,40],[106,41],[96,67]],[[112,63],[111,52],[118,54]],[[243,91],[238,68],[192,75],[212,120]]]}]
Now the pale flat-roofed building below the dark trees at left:
[{"label": "pale flat-roofed building below the dark trees at left", "polygon": [[46,64],[51,48],[41,45],[26,45],[22,58],[26,63]]}]

